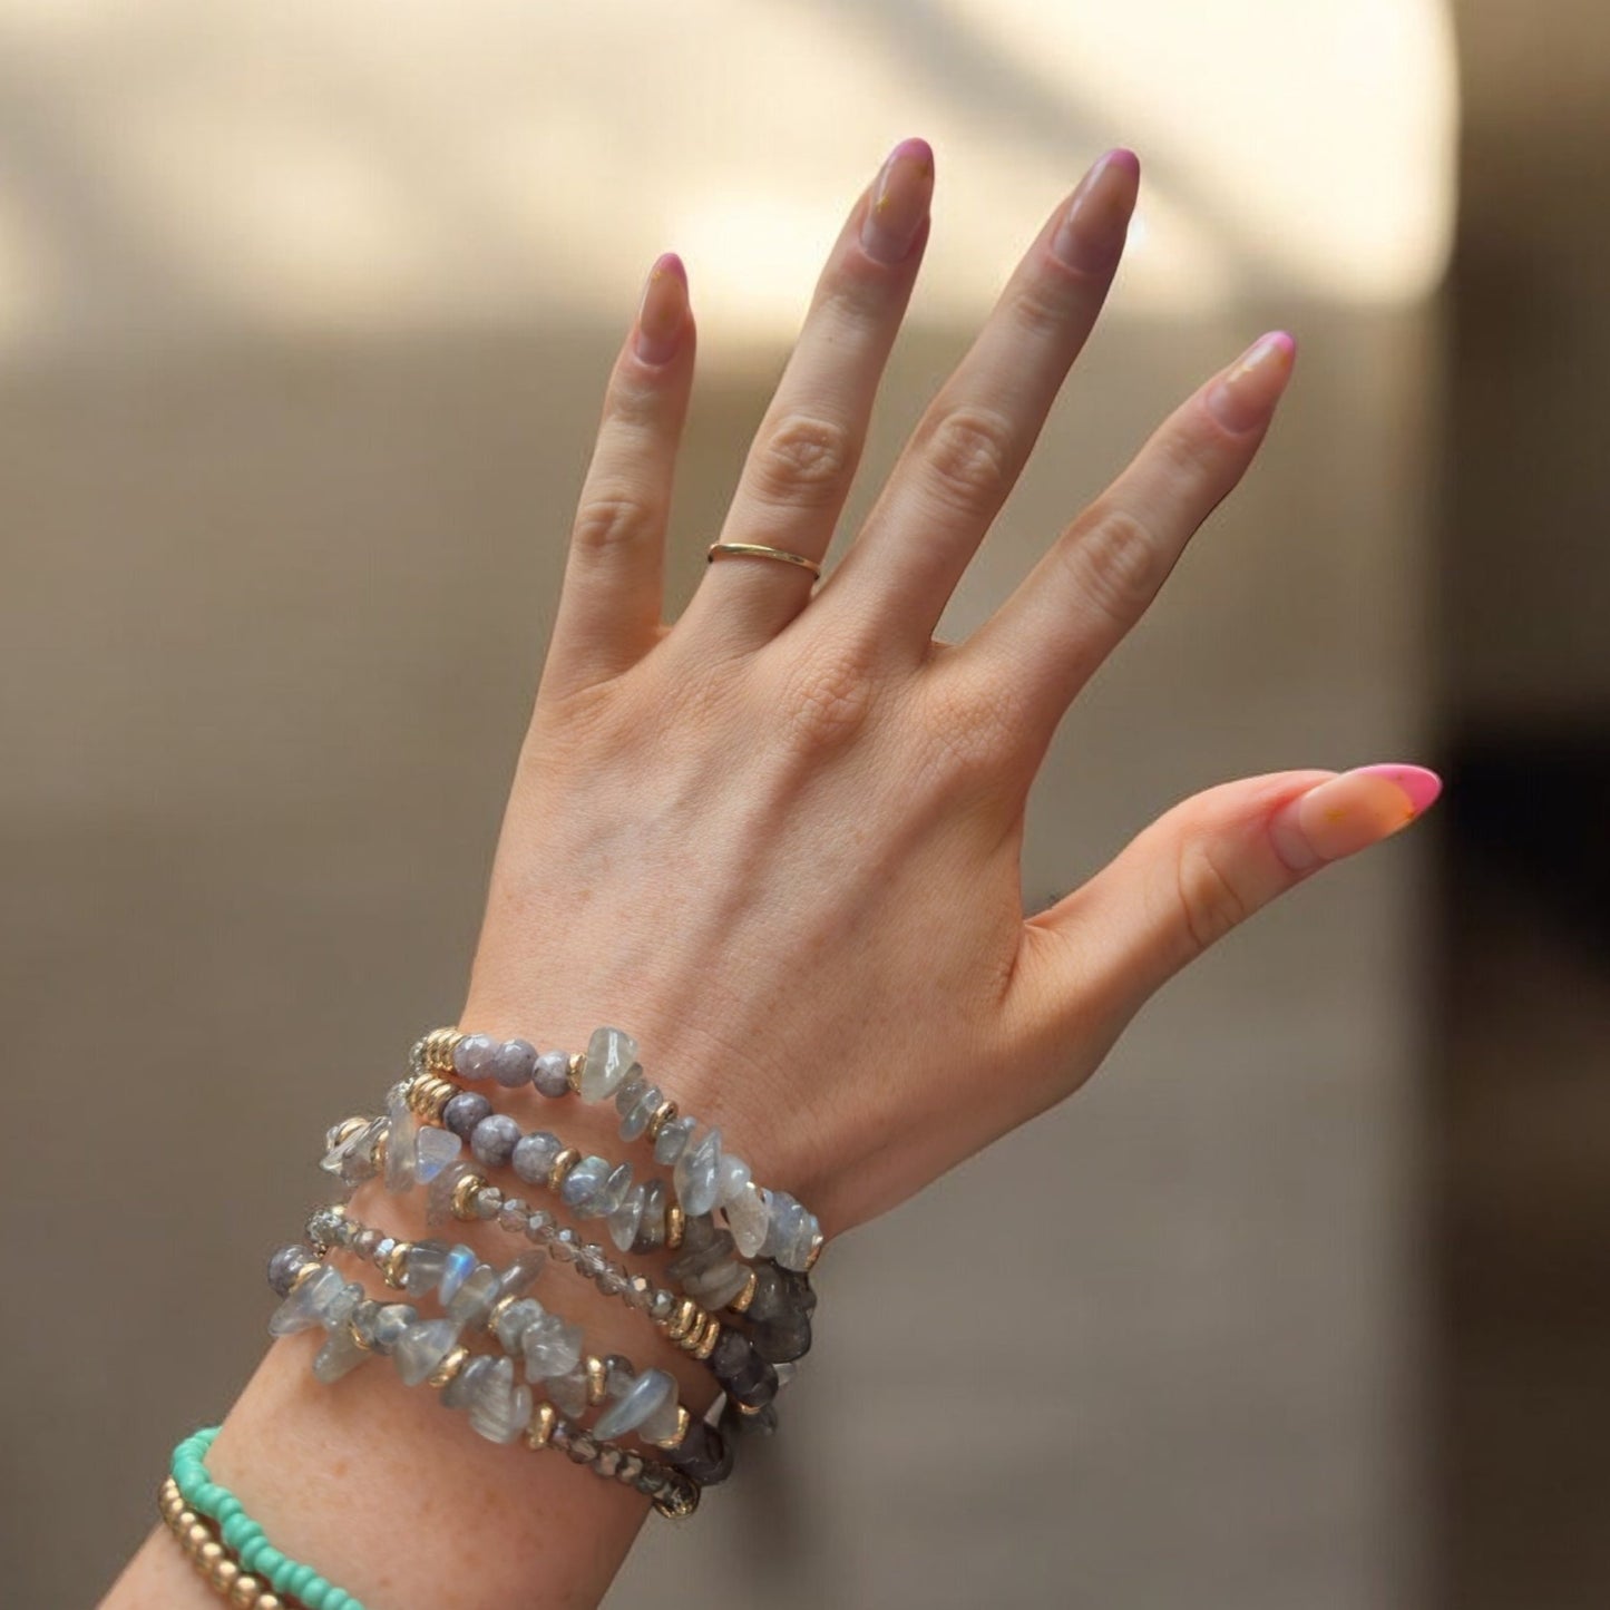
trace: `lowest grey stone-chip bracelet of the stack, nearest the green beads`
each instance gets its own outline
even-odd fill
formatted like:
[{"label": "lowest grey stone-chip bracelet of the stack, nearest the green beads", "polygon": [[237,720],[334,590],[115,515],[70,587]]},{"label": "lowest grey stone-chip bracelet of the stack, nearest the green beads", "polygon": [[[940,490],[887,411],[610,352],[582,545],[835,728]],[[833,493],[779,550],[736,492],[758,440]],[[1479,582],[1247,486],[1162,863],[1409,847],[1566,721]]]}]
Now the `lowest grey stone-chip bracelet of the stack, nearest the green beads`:
[{"label": "lowest grey stone-chip bracelet of the stack, nearest the green beads", "polygon": [[[333,1217],[340,1211],[322,1212]],[[646,1459],[599,1439],[596,1431],[570,1425],[554,1404],[533,1404],[530,1386],[515,1386],[512,1359],[470,1354],[457,1343],[451,1319],[420,1320],[411,1304],[375,1302],[357,1282],[341,1280],[311,1246],[275,1253],[269,1261],[269,1282],[285,1298],[269,1322],[274,1335],[295,1335],[316,1325],[327,1331],[328,1340],[314,1359],[319,1380],[338,1380],[369,1352],[393,1357],[406,1385],[425,1381],[440,1388],[444,1407],[469,1409],[472,1426],[488,1441],[512,1443],[523,1435],[531,1449],[560,1447],[596,1475],[642,1492],[662,1515],[691,1515],[699,1507],[699,1486],[705,1478],[721,1480],[731,1472],[731,1449],[679,1406],[675,1433],[679,1441],[663,1460]],[[618,1368],[626,1360],[615,1362]],[[607,1370],[609,1360],[604,1367]]]}]

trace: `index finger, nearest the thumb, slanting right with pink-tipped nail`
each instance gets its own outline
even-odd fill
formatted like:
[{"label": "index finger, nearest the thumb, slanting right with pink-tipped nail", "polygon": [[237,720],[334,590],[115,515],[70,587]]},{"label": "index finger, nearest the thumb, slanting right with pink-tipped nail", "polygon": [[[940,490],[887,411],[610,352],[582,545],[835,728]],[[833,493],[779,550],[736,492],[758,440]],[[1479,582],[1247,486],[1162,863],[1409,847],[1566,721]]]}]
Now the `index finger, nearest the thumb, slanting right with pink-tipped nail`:
[{"label": "index finger, nearest the thumb, slanting right with pink-tipped nail", "polygon": [[948,657],[947,675],[1011,687],[1027,760],[1038,758],[1074,696],[1246,473],[1294,357],[1290,335],[1264,335],[1175,409],[1001,609]]}]

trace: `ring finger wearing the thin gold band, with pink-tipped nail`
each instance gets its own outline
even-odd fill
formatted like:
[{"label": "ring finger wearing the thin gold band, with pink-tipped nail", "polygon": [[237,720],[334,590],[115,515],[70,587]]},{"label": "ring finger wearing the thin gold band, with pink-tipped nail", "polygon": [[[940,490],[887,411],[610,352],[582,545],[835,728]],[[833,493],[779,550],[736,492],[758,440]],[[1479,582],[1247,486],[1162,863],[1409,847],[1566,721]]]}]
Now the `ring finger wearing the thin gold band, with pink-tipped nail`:
[{"label": "ring finger wearing the thin gold band, with pink-tipped nail", "polygon": [[[823,269],[720,541],[760,543],[811,560],[826,554],[911,298],[932,193],[932,150],[926,140],[902,140],[858,198]],[[805,607],[810,591],[810,572],[795,565],[721,559],[683,620],[734,646],[758,646]]]}]

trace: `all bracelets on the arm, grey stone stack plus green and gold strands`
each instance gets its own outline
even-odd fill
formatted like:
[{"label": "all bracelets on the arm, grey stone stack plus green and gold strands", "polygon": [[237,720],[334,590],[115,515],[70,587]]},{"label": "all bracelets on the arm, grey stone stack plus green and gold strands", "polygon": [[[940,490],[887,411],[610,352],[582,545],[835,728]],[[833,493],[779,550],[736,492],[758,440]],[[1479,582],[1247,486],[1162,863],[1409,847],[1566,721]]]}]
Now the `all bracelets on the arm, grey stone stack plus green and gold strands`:
[{"label": "all bracelets on the arm, grey stone stack plus green and gold strands", "polygon": [[[621,1141],[641,1143],[670,1177],[581,1153],[547,1129],[522,1130],[488,1093],[520,1087],[555,1101],[613,1100]],[[412,1046],[382,1114],[330,1129],[320,1167],[345,1195],[317,1208],[303,1240],[280,1248],[267,1270],[280,1298],[270,1335],[324,1331],[311,1360],[319,1381],[388,1357],[404,1385],[435,1386],[488,1441],[557,1449],[673,1517],[692,1513],[704,1488],[726,1480],[739,1438],[774,1430],[778,1391],[811,1344],[821,1227],[794,1196],[758,1185],[718,1129],[700,1133],[650,1084],[620,1029],[596,1030],[578,1053],[433,1029]],[[514,1243],[507,1261],[361,1224],[348,1198],[377,1177],[391,1193],[423,1193],[431,1227],[496,1225]],[[675,1257],[660,1277],[633,1270],[562,1216],[602,1220],[617,1253]],[[356,1278],[364,1265],[398,1301],[370,1294]],[[657,1335],[704,1365],[720,1386],[708,1414],[679,1402],[670,1370],[591,1351],[564,1314],[572,1288],[555,1267],[639,1312],[650,1341]],[[232,1605],[362,1610],[287,1560],[211,1481],[203,1459],[214,1435],[198,1431],[174,1451],[159,1492],[161,1515],[201,1576]]]}]

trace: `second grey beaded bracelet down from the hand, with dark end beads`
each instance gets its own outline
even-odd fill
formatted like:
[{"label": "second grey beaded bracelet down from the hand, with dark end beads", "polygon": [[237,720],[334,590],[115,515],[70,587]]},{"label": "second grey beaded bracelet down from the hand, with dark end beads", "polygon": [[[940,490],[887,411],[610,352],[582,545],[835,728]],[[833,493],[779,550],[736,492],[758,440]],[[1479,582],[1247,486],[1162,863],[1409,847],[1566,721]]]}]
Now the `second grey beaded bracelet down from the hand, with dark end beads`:
[{"label": "second grey beaded bracelet down from the hand, with dark end beads", "polygon": [[457,1090],[433,1074],[415,1074],[404,1085],[404,1100],[417,1116],[467,1141],[485,1167],[507,1166],[526,1185],[554,1191],[578,1219],[604,1219],[620,1251],[679,1249],[667,1275],[707,1309],[744,1315],[755,1349],[768,1362],[792,1364],[810,1351],[816,1307],[810,1277],[771,1257],[750,1264],[731,1230],[718,1228],[712,1212],[687,1214],[668,1201],[662,1180],[633,1185],[630,1162],[581,1156],[551,1130],[522,1133],[480,1092]]}]

